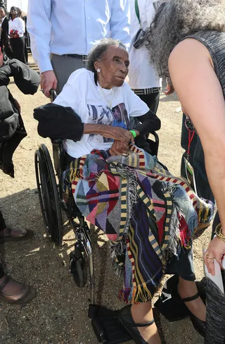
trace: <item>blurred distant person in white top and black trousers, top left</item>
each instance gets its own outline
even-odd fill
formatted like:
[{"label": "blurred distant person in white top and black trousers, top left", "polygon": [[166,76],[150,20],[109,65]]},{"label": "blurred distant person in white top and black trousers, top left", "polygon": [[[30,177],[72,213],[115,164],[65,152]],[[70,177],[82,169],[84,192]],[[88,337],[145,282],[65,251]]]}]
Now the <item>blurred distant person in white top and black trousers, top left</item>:
[{"label": "blurred distant person in white top and black trousers, top left", "polygon": [[12,48],[13,59],[27,63],[25,56],[25,21],[21,18],[22,12],[18,7],[11,7],[8,16],[8,35]]}]

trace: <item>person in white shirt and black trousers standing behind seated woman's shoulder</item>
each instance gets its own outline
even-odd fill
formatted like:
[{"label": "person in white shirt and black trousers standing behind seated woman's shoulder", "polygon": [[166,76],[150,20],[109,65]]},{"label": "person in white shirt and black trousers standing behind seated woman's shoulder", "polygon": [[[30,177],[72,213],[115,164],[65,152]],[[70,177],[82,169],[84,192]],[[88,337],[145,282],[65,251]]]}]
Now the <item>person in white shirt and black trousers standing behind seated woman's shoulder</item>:
[{"label": "person in white shirt and black trousers standing behind seated woman's shoulder", "polygon": [[[134,38],[140,29],[140,23],[143,30],[150,26],[160,3],[161,1],[156,0],[129,0],[132,43],[134,43]],[[128,77],[131,89],[156,114],[160,101],[162,79],[160,79],[155,68],[150,65],[145,44],[139,49],[134,48],[133,44],[131,44],[129,62]]]}]

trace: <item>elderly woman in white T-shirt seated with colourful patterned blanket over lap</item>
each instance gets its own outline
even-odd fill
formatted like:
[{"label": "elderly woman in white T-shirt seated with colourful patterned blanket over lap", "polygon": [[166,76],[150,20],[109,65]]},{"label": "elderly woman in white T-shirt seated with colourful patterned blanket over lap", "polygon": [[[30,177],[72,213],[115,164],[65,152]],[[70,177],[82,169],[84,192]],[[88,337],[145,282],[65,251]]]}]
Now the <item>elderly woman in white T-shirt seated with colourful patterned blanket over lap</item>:
[{"label": "elderly woman in white T-shirt seated with colourful patterned blanket over lap", "polygon": [[124,82],[123,44],[103,39],[88,60],[53,103],[34,110],[40,135],[64,139],[64,199],[72,190],[79,211],[108,236],[115,271],[124,273],[120,299],[129,303],[120,323],[136,343],[161,343],[151,299],[165,273],[179,275],[174,297],[204,334],[191,247],[213,205],[150,154],[145,135],[160,129],[160,119]]}]

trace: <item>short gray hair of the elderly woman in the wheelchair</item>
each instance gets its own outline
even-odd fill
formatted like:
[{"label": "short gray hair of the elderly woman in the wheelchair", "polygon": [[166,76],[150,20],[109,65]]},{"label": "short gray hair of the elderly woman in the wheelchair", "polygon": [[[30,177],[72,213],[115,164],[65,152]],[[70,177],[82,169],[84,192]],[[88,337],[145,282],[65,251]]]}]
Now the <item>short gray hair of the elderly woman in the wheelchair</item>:
[{"label": "short gray hair of the elderly woman in the wheelchair", "polygon": [[108,47],[111,47],[112,45],[126,49],[124,44],[122,44],[122,42],[120,42],[118,39],[103,38],[100,42],[94,45],[94,47],[89,52],[89,55],[87,56],[88,61],[86,68],[88,70],[91,70],[91,72],[96,73],[94,63],[98,60],[101,60]]}]

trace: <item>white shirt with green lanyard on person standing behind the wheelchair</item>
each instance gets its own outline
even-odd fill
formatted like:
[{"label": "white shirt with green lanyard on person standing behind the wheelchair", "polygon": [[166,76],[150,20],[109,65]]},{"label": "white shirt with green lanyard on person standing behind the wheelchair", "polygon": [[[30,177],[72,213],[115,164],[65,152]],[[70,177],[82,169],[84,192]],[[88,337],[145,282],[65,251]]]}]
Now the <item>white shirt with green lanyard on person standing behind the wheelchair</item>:
[{"label": "white shirt with green lanyard on person standing behind the wheelchair", "polygon": [[[131,11],[131,42],[133,42],[140,25],[135,12],[135,1],[129,0]],[[139,0],[139,13],[143,30],[152,23],[155,16],[155,8],[158,7],[160,1]],[[135,49],[131,43],[129,51],[129,85],[132,89],[141,90],[153,87],[162,87],[162,79],[155,68],[150,65],[150,59],[146,47],[143,45],[140,49]]]}]

